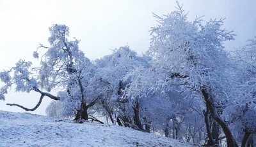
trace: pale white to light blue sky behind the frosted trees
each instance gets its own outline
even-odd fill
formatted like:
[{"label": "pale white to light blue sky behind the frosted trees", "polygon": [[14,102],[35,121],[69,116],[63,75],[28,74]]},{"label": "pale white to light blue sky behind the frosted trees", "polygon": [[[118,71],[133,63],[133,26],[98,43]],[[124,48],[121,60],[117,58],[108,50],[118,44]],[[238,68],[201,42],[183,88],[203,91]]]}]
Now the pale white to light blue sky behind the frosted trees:
[{"label": "pale white to light blue sky behind the frosted trees", "polygon": [[[246,39],[256,35],[256,1],[254,0],[180,0],[184,10],[189,11],[189,20],[205,15],[210,18],[227,18],[223,28],[234,30],[236,41],[225,43],[228,50],[244,45]],[[19,59],[31,60],[39,43],[48,45],[48,28],[52,24],[65,24],[70,28],[70,39],[81,39],[79,47],[89,59],[108,55],[114,48],[129,45],[138,53],[148,50],[150,27],[156,26],[157,15],[166,15],[175,10],[175,0],[0,0],[0,71],[15,65]],[[19,111],[6,103],[22,104],[33,108],[40,95],[14,93],[0,101],[0,110]],[[51,99],[44,97],[41,106],[34,112],[44,115]]]}]

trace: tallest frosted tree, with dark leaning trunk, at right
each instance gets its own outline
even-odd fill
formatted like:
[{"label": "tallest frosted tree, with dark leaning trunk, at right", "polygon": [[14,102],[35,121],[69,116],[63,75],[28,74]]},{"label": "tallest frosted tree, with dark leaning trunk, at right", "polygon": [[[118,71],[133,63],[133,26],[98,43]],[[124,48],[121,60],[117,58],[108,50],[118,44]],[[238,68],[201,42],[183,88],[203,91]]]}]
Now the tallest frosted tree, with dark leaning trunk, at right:
[{"label": "tallest frosted tree, with dark leaning trunk, at right", "polygon": [[[210,20],[202,25],[202,19],[189,22],[182,6],[177,11],[158,18],[159,25],[152,27],[152,41],[148,53],[155,59],[152,68],[158,77],[152,90],[169,91],[182,87],[182,91],[195,91],[205,101],[206,123],[209,116],[221,126],[228,146],[237,146],[227,124],[217,111],[218,102],[226,101],[230,87],[228,53],[223,41],[234,39],[232,32],[221,29],[224,19]],[[208,132],[209,144],[214,144]]]}]

